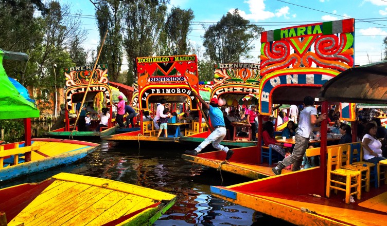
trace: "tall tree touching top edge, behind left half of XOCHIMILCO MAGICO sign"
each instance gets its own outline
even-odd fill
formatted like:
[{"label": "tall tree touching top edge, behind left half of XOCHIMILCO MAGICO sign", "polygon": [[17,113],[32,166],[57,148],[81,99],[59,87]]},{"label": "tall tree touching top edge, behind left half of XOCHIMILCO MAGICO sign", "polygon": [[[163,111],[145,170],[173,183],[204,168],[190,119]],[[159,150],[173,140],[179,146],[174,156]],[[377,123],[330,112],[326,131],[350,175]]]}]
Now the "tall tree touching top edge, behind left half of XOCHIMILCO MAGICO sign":
[{"label": "tall tree touching top edge, behind left half of XOCHIMILCO MAGICO sign", "polygon": [[160,33],[167,7],[164,1],[133,0],[124,4],[124,48],[129,67],[137,74],[136,58],[159,51]]}]

